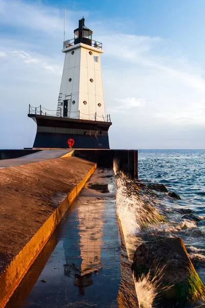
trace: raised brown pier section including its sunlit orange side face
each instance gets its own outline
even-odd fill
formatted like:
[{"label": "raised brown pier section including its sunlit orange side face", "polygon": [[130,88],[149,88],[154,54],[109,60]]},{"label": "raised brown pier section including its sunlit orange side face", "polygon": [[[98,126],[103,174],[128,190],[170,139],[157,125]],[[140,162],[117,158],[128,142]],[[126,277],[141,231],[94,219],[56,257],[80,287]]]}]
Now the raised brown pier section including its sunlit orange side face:
[{"label": "raised brown pier section including its sunlit orange side face", "polygon": [[95,163],[66,157],[1,169],[0,307],[95,168]]}]

